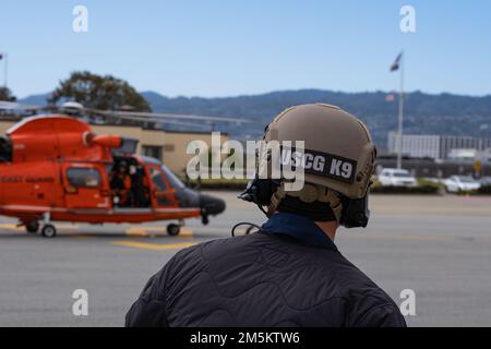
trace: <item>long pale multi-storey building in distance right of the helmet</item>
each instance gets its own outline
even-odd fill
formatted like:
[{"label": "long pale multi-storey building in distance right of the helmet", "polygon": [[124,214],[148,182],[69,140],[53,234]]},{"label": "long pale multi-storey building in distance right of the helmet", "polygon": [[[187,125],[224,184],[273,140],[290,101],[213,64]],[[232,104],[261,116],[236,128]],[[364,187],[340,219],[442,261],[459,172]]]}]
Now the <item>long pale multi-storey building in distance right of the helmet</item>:
[{"label": "long pale multi-storey building in distance right of the helmet", "polygon": [[[482,152],[491,148],[491,139],[477,139],[469,136],[434,135],[434,134],[404,134],[403,155],[418,158],[448,159],[453,149]],[[398,135],[388,133],[387,151],[397,154]],[[458,156],[457,156],[458,157]]]}]

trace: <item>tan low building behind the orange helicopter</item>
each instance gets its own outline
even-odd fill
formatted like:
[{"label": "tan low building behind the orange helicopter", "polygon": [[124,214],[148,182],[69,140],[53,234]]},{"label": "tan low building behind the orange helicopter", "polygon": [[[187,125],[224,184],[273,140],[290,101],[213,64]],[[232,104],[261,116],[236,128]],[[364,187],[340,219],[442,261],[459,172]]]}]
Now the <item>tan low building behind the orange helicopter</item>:
[{"label": "tan low building behind the orange helicopter", "polygon": [[[16,122],[0,120],[0,134],[5,133]],[[164,161],[177,174],[184,174],[188,161],[194,156],[187,154],[189,143],[203,141],[208,147],[212,145],[212,134],[209,132],[166,131],[121,124],[93,124],[91,127],[97,134],[118,134],[137,140],[139,154],[155,157]],[[228,136],[221,133],[221,144],[227,140]]]}]

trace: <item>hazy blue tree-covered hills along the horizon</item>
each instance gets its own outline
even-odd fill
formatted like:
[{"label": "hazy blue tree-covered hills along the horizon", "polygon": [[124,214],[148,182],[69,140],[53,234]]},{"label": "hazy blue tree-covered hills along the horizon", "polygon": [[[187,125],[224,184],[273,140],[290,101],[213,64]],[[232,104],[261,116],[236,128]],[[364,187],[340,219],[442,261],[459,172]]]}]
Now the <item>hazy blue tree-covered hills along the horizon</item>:
[{"label": "hazy blue tree-covered hills along the horizon", "polygon": [[[337,105],[358,116],[367,123],[380,146],[385,145],[387,132],[397,128],[397,100],[386,101],[385,92],[300,89],[221,98],[169,98],[155,92],[142,94],[157,112],[242,117],[254,120],[254,123],[244,127],[215,125],[217,130],[228,132],[237,139],[260,136],[265,124],[283,109],[307,103]],[[40,105],[46,97],[47,94],[37,95],[20,101]],[[406,100],[404,127],[407,133],[491,137],[491,96],[410,93]]]}]

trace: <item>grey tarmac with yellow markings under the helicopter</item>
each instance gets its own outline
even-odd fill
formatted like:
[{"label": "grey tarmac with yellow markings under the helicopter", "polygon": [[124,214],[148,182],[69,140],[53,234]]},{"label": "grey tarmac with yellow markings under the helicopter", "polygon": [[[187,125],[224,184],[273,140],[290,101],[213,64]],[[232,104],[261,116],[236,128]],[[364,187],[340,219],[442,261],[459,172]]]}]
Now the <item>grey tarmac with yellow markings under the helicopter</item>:
[{"label": "grey tarmac with yellow markings under the helicopter", "polygon": [[[265,219],[236,193],[225,214],[179,237],[167,222],[57,224],[55,239],[33,236],[0,218],[0,326],[122,326],[149,276],[180,249],[227,238],[239,221]],[[491,326],[491,197],[372,195],[367,229],[340,229],[339,251],[399,304],[416,293],[410,326]],[[88,315],[72,313],[76,289],[88,292]]]}]

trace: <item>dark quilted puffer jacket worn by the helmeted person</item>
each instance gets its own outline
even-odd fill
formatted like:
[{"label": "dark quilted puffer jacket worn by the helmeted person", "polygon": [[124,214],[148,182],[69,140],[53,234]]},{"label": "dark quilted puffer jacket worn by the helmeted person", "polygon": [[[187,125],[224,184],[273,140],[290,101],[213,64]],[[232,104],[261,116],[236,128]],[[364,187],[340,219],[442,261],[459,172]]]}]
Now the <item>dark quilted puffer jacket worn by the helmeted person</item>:
[{"label": "dark quilted puffer jacket worn by the helmeted person", "polygon": [[336,248],[261,232],[180,251],[149,279],[127,326],[406,323],[393,300]]}]

